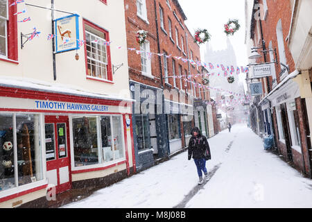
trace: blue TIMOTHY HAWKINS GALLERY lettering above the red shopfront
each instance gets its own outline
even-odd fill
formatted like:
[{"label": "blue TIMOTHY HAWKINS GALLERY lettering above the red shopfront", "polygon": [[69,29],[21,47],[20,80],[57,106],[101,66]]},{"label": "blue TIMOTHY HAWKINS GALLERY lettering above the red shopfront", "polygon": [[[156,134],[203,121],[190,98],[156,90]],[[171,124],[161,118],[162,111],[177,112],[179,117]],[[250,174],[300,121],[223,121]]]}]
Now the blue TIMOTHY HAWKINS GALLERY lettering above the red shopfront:
[{"label": "blue TIMOTHY HAWKINS GALLERY lettering above the red shopfront", "polygon": [[62,103],[53,101],[35,101],[35,107],[43,110],[101,111],[107,112],[107,105],[89,105],[79,103]]}]

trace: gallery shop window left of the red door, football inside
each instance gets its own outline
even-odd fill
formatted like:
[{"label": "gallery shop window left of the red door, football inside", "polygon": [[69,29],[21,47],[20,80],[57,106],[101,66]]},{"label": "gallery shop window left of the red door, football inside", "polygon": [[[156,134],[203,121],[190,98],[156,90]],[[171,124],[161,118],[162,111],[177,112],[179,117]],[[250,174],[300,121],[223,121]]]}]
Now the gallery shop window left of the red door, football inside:
[{"label": "gallery shop window left of the red door, football inside", "polygon": [[0,191],[42,180],[40,144],[38,114],[0,114]]}]

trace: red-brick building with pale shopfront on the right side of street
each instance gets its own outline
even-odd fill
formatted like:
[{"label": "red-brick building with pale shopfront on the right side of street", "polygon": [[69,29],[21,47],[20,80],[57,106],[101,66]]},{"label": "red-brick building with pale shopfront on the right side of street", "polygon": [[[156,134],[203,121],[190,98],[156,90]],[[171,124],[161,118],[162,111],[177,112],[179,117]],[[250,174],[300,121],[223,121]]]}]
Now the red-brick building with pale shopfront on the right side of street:
[{"label": "red-brick building with pale shopfront on the right side of street", "polygon": [[261,58],[252,63],[272,62],[272,76],[260,78],[263,94],[257,105],[262,112],[261,133],[274,135],[275,146],[284,160],[311,176],[311,147],[307,143],[304,123],[308,119],[298,84],[302,73],[296,69],[288,47],[294,4],[291,0],[253,1],[250,41],[259,49]]}]

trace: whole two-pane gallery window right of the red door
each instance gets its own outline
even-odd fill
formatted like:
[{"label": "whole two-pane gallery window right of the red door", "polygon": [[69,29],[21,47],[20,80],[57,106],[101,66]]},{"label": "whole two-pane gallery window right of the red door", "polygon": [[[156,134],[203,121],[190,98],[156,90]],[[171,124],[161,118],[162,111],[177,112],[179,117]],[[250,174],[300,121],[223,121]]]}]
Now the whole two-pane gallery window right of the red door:
[{"label": "whole two-pane gallery window right of the red door", "polygon": [[121,116],[73,117],[72,123],[75,167],[125,157]]}]

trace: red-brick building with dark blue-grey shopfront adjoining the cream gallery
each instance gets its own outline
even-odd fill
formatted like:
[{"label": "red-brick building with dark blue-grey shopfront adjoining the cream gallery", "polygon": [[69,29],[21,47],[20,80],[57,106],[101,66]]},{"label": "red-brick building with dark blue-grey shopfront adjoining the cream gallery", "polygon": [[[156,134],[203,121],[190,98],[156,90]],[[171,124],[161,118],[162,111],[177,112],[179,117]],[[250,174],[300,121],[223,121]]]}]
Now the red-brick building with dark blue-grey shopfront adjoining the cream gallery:
[{"label": "red-brick building with dark blue-grey shopfront adjoining the cream gallery", "polygon": [[[132,116],[137,170],[184,150],[196,122],[193,112],[184,117],[182,106],[193,109],[193,96],[209,101],[208,90],[200,92],[191,84],[202,83],[201,76],[193,76],[201,73],[202,67],[189,61],[200,61],[200,47],[185,20],[177,0],[125,0],[130,90],[132,99],[139,101],[133,105]],[[137,42],[139,30],[147,31],[141,45]],[[191,78],[186,77],[189,75]],[[147,98],[155,102],[155,113],[148,106],[148,112],[144,110]],[[207,119],[207,114],[202,115]]]}]

